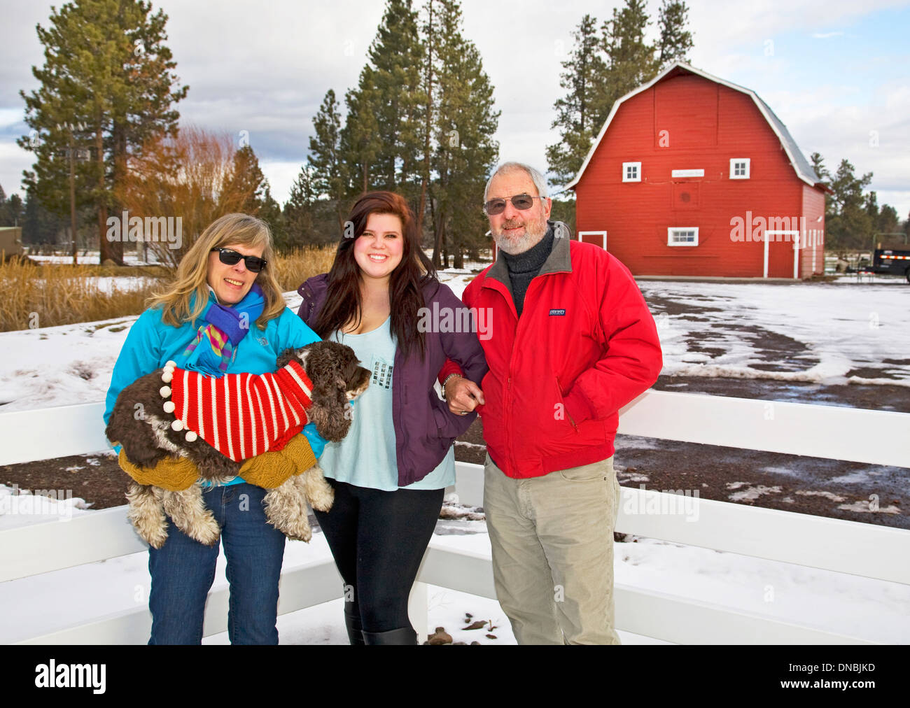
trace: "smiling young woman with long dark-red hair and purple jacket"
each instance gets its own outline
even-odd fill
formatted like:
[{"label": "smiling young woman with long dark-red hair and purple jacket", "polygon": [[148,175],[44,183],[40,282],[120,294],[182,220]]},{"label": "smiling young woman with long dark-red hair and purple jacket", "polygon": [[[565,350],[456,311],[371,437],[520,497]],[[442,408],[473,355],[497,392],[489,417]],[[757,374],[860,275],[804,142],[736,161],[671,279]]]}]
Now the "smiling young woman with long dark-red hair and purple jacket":
[{"label": "smiling young woman with long dark-red hair and purple jacket", "polygon": [[476,415],[451,413],[434,383],[447,358],[475,382],[487,365],[477,333],[451,326],[467,310],[436,279],[407,202],[369,192],[349,223],[329,273],[299,289],[300,317],[373,372],[348,436],[319,460],[335,502],[315,513],[345,582],[350,642],[413,644],[410,588],[455,483],[452,442]]}]

